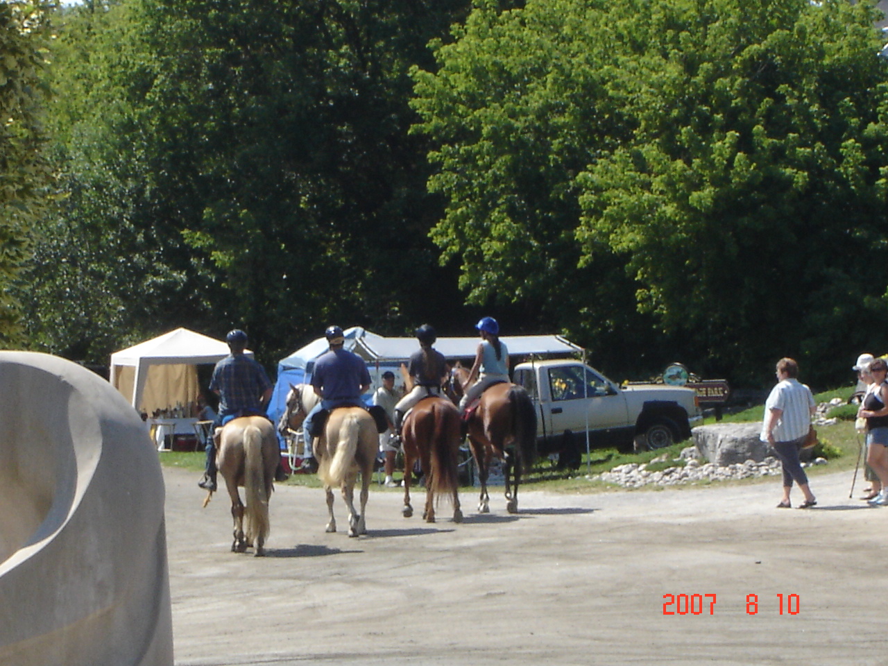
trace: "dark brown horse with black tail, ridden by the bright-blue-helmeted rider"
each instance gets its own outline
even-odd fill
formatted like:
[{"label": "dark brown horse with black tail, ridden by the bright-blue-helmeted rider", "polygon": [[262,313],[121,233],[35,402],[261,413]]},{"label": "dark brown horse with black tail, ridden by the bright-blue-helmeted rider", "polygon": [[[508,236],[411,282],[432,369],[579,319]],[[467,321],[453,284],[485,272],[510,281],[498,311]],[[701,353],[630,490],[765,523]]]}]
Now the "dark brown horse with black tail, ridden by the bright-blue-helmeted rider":
[{"label": "dark brown horse with black tail, ridden by the bright-blue-helmeted rider", "polygon": [[[469,370],[456,363],[451,369],[451,388],[462,396],[462,384]],[[503,382],[488,386],[481,393],[478,407],[468,420],[469,445],[478,466],[481,492],[480,513],[490,511],[488,474],[494,456],[505,465],[506,511],[518,512],[518,487],[522,472],[529,472],[536,460],[536,408],[523,386]],[[508,450],[511,448],[512,453]],[[511,477],[514,488],[511,491]]]}]

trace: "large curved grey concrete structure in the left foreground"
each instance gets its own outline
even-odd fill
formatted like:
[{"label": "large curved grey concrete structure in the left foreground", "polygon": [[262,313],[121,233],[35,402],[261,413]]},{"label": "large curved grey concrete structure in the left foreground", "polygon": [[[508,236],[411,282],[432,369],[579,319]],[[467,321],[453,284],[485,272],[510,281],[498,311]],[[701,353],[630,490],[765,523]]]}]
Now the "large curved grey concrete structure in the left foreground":
[{"label": "large curved grey concrete structure in the left foreground", "polygon": [[120,393],[69,361],[0,352],[0,663],[172,664],[163,500]]}]

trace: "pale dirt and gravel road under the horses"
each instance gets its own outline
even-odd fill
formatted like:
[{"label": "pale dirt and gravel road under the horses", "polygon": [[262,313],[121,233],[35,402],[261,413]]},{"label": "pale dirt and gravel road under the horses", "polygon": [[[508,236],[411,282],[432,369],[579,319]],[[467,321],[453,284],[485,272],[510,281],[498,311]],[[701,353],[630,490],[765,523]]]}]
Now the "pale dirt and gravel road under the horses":
[{"label": "pale dirt and gravel road under the horses", "polygon": [[[851,472],[814,479],[811,511],[775,509],[779,481],[522,492],[515,516],[496,488],[491,514],[467,492],[464,523],[442,504],[428,525],[373,492],[359,539],[324,533],[320,489],[284,486],[265,559],[229,552],[224,493],[202,510],[194,473],[164,476],[177,664],[888,662],[888,508],[848,499]],[[664,615],[666,594],[702,613]]]}]

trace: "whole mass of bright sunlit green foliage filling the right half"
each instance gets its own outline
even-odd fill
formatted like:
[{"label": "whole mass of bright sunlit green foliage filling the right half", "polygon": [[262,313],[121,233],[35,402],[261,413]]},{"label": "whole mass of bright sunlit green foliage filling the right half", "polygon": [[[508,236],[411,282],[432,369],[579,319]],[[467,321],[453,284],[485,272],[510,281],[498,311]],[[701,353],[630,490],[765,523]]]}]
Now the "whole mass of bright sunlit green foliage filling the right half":
[{"label": "whole mass of bright sunlit green foliage filling the right half", "polygon": [[888,344],[874,19],[839,0],[478,2],[413,72],[448,202],[432,236],[473,298],[534,300],[593,352],[620,336],[738,379],[783,355],[845,374],[839,350]]}]

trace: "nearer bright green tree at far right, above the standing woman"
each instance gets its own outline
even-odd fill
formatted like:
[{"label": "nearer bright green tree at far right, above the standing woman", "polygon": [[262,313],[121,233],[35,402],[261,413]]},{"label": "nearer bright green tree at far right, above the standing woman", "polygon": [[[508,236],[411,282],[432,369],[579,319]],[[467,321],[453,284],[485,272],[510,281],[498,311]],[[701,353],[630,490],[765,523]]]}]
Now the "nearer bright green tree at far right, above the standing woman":
[{"label": "nearer bright green tree at far right, above the standing woman", "polygon": [[884,61],[868,4],[656,4],[609,88],[631,139],[577,178],[584,261],[735,375],[844,380],[885,345]]}]

